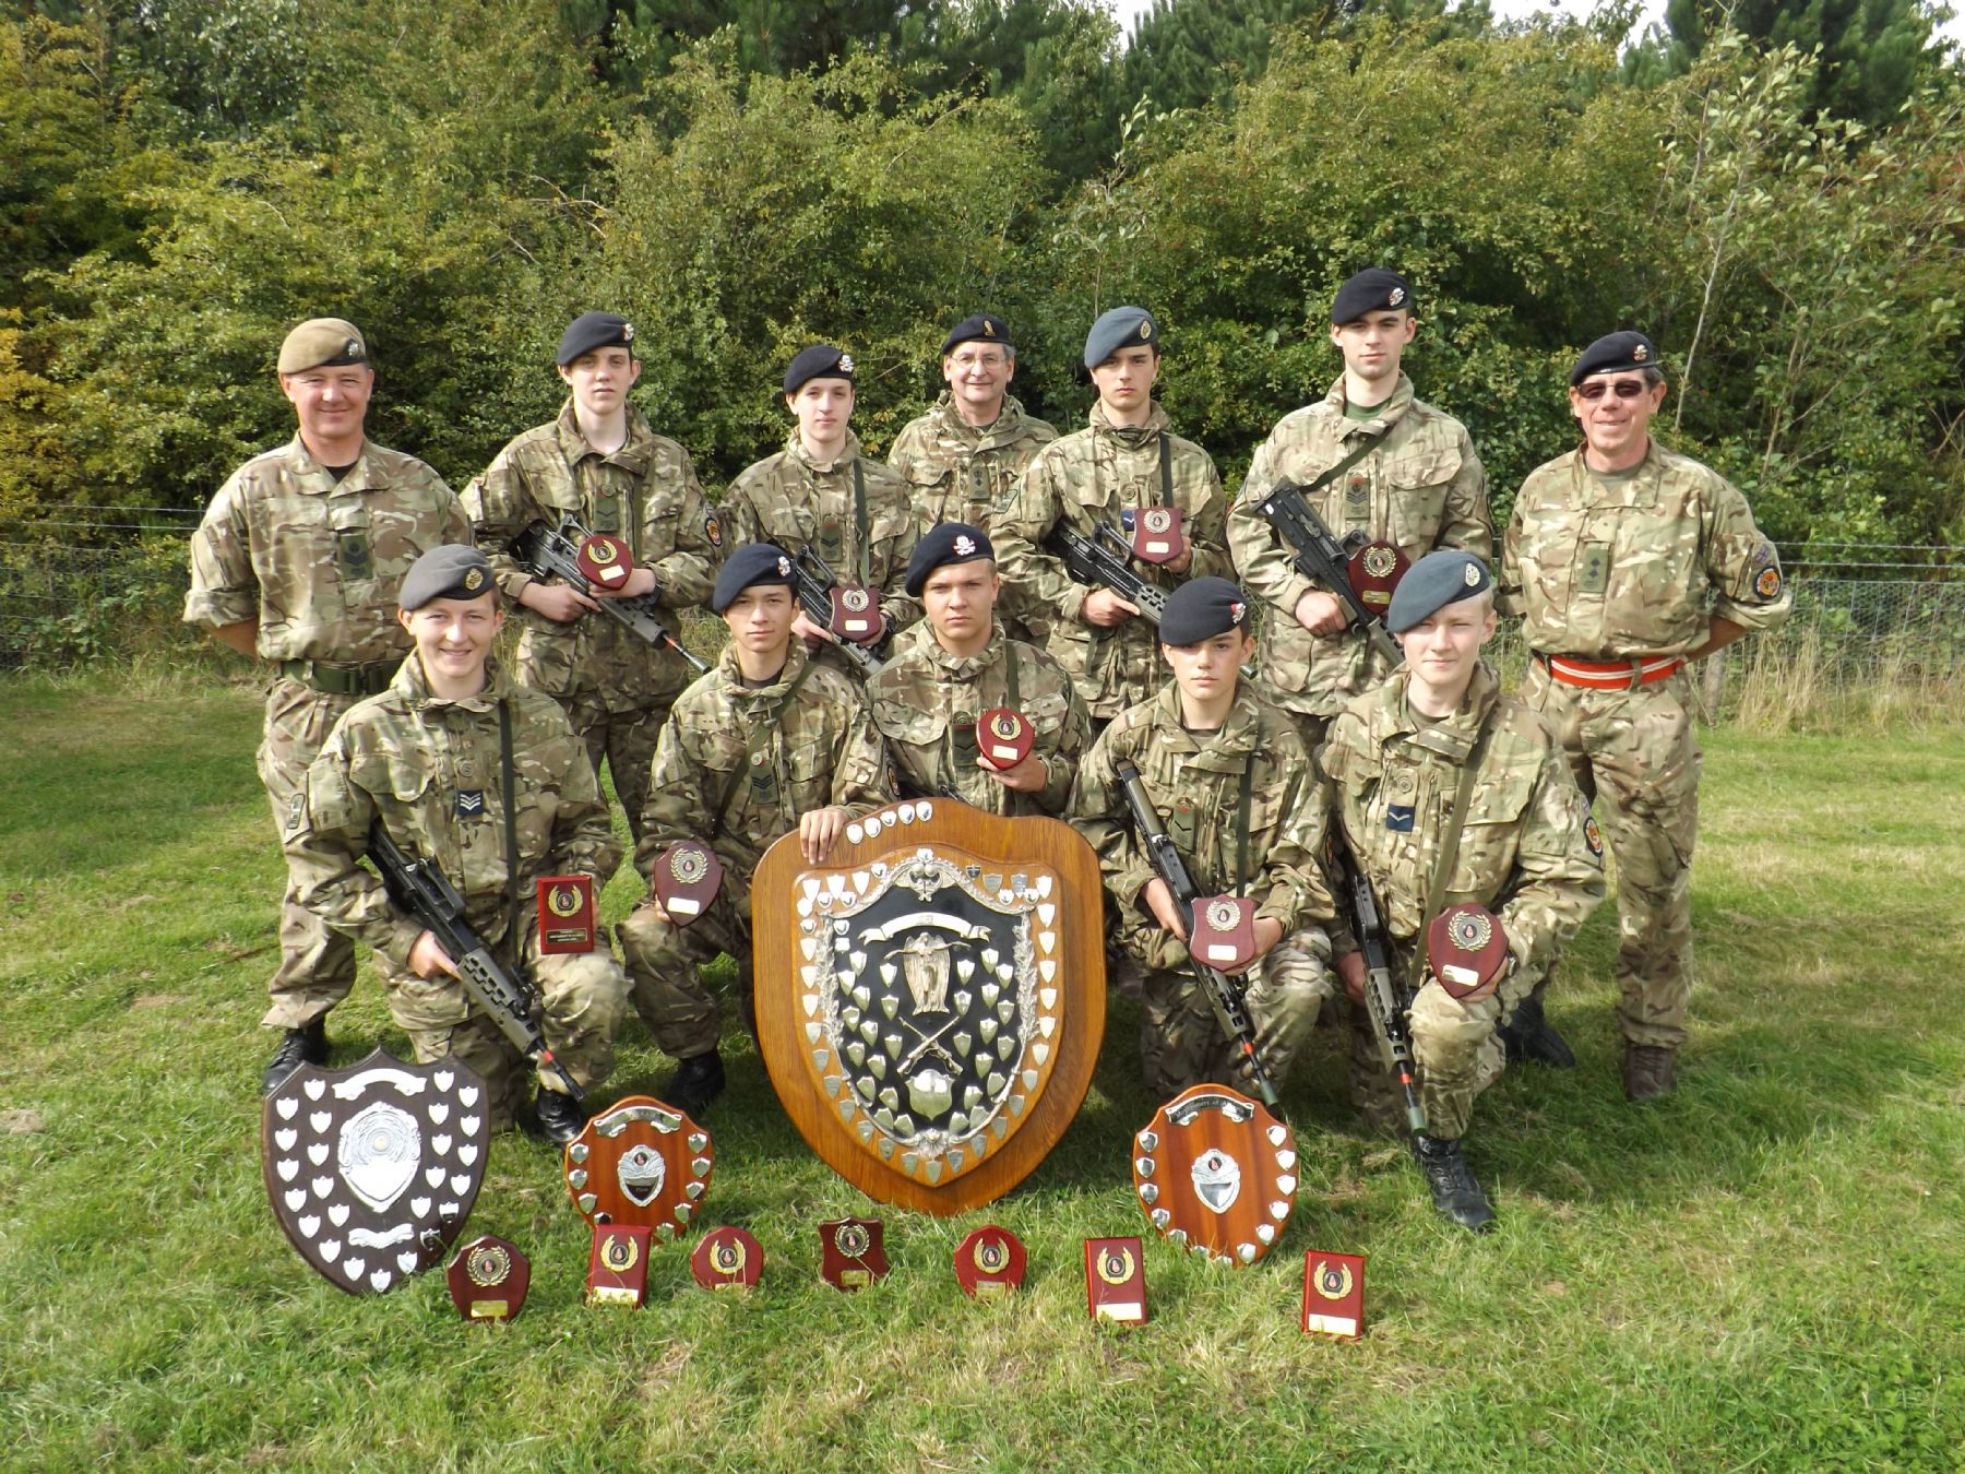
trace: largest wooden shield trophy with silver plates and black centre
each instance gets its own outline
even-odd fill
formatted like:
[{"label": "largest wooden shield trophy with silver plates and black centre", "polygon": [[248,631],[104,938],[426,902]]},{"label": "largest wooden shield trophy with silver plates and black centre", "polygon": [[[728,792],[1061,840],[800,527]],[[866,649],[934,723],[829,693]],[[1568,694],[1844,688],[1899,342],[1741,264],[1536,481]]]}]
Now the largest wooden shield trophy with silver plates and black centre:
[{"label": "largest wooden shield trophy with silver plates and black centre", "polygon": [[751,894],[764,1063],[833,1171],[947,1215],[1043,1162],[1104,1036],[1098,861],[1077,831],[892,804],[825,865],[786,835]]}]

